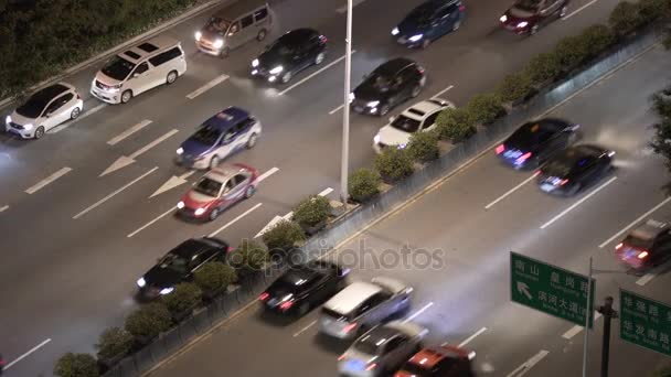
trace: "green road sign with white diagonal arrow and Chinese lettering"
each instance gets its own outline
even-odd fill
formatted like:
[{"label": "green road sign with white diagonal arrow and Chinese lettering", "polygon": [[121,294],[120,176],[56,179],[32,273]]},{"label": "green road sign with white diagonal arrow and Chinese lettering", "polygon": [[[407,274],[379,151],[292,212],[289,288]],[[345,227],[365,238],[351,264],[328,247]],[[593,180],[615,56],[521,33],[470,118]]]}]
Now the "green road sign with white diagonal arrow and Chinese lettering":
[{"label": "green road sign with white diagonal arrow and Chinese lettering", "polygon": [[[594,322],[594,293],[587,305],[587,280],[579,273],[510,252],[510,298],[513,302],[546,314],[585,325]],[[595,281],[592,279],[592,292]]]}]

